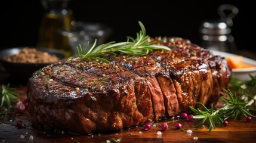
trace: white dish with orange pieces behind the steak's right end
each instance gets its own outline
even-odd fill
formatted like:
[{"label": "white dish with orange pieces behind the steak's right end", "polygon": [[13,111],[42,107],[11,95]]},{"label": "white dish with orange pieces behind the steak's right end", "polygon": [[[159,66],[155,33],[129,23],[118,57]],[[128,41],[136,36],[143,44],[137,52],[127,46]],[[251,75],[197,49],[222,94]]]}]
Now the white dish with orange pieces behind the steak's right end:
[{"label": "white dish with orange pieces behind the steak's right end", "polygon": [[[212,53],[215,55],[220,55],[221,57],[225,57],[225,58],[238,56],[236,54],[230,54],[227,52],[214,51],[214,50],[210,50],[210,51],[212,51]],[[251,58],[243,57],[243,63],[251,64],[252,66],[255,66],[255,67],[232,69],[232,73],[239,80],[250,80],[251,77],[249,77],[249,74],[251,74],[252,76],[256,76],[256,61],[252,60]]]}]

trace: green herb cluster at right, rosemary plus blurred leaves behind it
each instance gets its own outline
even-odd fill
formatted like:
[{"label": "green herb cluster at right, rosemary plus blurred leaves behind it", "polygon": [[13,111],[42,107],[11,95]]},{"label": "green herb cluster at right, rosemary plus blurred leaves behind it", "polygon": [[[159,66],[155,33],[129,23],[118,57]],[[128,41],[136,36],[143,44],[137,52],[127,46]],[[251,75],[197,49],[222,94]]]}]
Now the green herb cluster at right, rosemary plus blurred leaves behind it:
[{"label": "green herb cluster at right, rosemary plus blurred leaves behind it", "polygon": [[[214,110],[213,105],[208,109],[201,102],[197,102],[197,105],[202,107],[202,110],[189,107],[196,115],[193,119],[202,119],[201,123],[195,127],[201,126],[207,121],[209,122],[209,132],[215,129],[216,125],[221,125],[224,120],[233,117],[235,120],[238,117],[256,117],[251,114],[249,110],[253,110],[252,103],[256,100],[256,78],[249,75],[251,80],[240,81],[232,76],[232,80],[229,83],[229,89],[224,89],[229,97],[220,97],[221,100],[226,102],[223,108]],[[232,89],[235,92],[231,92]],[[238,96],[237,96],[238,95]]]}]

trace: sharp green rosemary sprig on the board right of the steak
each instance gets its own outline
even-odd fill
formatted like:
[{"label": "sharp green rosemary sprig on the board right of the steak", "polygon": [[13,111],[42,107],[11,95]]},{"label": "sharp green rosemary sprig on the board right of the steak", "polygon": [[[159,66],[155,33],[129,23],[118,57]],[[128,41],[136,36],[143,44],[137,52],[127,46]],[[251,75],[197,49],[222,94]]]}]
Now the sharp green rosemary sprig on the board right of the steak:
[{"label": "sharp green rosemary sprig on the board right of the steak", "polygon": [[[252,79],[253,81],[256,81],[255,78]],[[251,82],[245,82],[248,84],[253,83]],[[235,85],[238,85],[238,82],[234,82]],[[193,116],[193,119],[202,119],[202,122],[195,126],[195,128],[198,128],[199,126],[203,125],[207,121],[209,122],[209,132],[211,132],[212,129],[215,129],[215,125],[222,125],[224,120],[229,119],[230,117],[233,117],[234,120],[238,119],[238,117],[256,117],[251,114],[249,110],[251,110],[251,105],[248,105],[247,100],[243,100],[241,96],[236,96],[236,94],[233,94],[230,89],[224,89],[227,92],[227,95],[229,95],[229,98],[226,97],[220,97],[221,100],[225,101],[226,104],[223,108],[214,110],[214,106],[211,105],[211,108],[208,109],[203,105],[201,102],[196,102],[196,104],[199,104],[202,107],[202,110],[199,108],[195,109],[193,107],[189,107],[190,110],[192,110],[194,113],[196,113],[196,116]]]}]

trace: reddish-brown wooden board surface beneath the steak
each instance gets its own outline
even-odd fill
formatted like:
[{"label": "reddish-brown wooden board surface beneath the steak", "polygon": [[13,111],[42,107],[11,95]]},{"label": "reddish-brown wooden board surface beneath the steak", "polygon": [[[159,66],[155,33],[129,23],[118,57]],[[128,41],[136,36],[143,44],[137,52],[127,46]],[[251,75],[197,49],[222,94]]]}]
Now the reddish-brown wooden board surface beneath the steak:
[{"label": "reddish-brown wooden board surface beneath the steak", "polygon": [[[18,98],[26,98],[26,87],[17,88]],[[216,127],[208,132],[205,128],[193,128],[198,120],[186,121],[185,119],[168,119],[153,123],[150,130],[143,126],[122,130],[113,133],[91,135],[75,135],[63,130],[48,130],[30,124],[29,113],[20,115],[1,113],[0,116],[0,142],[255,142],[256,119],[246,122],[246,119],[229,120],[227,127]],[[12,118],[13,117],[13,118]],[[11,118],[11,119],[10,119]],[[16,120],[20,119],[26,128],[16,128]],[[175,128],[176,123],[181,123],[184,131]],[[168,130],[162,131],[162,123],[168,123]],[[192,133],[187,133],[187,130]],[[162,135],[158,135],[160,131]],[[33,137],[33,139],[32,139]]]}]

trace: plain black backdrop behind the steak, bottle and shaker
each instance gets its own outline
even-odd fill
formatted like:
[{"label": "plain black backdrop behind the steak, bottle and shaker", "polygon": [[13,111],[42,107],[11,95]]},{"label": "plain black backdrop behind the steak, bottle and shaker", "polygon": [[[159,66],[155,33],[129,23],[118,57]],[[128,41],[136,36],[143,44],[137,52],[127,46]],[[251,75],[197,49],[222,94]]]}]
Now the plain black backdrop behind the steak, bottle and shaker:
[{"label": "plain black backdrop behind the steak, bottle and shaker", "polygon": [[[1,5],[0,49],[16,46],[35,46],[44,8],[39,0],[6,1]],[[221,4],[238,7],[233,18],[232,35],[239,50],[256,52],[255,26],[252,9],[245,1],[84,1],[73,0],[70,8],[77,21],[98,22],[113,29],[107,41],[125,41],[140,30],[138,21],[146,27],[147,35],[179,36],[193,43],[201,42],[199,26],[203,20],[218,19]],[[252,4],[251,4],[252,5]],[[255,16],[254,16],[255,17]],[[252,33],[252,36],[247,34]]]}]

